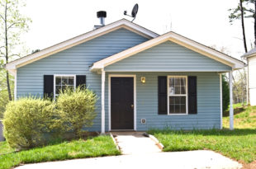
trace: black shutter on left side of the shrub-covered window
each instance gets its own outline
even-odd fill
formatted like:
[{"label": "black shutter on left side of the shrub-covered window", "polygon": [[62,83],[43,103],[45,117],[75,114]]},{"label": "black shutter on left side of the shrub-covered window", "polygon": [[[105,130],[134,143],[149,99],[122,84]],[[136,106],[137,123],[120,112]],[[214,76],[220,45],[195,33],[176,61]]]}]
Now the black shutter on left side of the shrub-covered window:
[{"label": "black shutter on left side of the shrub-covered window", "polygon": [[54,96],[54,75],[44,75],[44,96]]}]

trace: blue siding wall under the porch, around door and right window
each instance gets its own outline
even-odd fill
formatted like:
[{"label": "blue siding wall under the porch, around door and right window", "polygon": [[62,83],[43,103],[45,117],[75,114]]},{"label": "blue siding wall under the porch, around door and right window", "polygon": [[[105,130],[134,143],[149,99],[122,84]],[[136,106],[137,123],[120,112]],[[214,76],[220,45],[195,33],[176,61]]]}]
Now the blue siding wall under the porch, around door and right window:
[{"label": "blue siding wall under the porch, around door and right window", "polygon": [[[220,75],[218,73],[107,73],[107,77],[108,74],[136,75],[138,131],[164,128],[220,129]],[[197,76],[197,115],[158,115],[158,76],[168,75]],[[146,82],[140,82],[140,77],[146,77]],[[108,82],[108,78],[106,81]],[[108,87],[106,87],[107,94]],[[106,114],[108,116],[108,110]],[[146,119],[146,124],[141,124],[141,119]]]}]

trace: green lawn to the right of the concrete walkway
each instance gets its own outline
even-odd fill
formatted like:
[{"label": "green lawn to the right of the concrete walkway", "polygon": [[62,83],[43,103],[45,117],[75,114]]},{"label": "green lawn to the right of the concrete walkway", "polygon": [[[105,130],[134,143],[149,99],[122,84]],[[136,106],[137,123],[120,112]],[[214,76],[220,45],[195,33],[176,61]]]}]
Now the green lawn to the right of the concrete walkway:
[{"label": "green lawn to the right of the concrete walkway", "polygon": [[209,149],[237,161],[256,160],[256,129],[171,131],[151,130],[165,152]]}]

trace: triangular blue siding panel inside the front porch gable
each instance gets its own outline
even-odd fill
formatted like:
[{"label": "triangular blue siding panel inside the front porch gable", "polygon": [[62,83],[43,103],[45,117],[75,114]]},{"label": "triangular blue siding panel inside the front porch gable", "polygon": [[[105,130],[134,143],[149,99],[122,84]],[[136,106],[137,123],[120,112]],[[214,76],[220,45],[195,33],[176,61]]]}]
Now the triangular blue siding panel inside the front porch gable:
[{"label": "triangular blue siding panel inside the front porch gable", "polygon": [[216,72],[231,68],[214,59],[166,41],[107,66],[106,71],[130,72]]}]

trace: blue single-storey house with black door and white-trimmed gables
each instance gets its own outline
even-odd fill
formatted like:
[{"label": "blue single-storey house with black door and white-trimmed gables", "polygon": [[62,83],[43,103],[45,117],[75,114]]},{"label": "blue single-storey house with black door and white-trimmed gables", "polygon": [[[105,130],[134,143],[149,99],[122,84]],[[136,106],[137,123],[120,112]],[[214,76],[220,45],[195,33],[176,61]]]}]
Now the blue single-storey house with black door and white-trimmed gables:
[{"label": "blue single-storey house with black door and white-trimmed gables", "polygon": [[222,128],[221,73],[232,76],[243,62],[126,19],[98,27],[7,63],[15,98],[85,83],[99,96],[90,130]]}]

